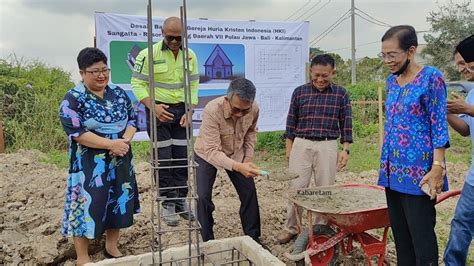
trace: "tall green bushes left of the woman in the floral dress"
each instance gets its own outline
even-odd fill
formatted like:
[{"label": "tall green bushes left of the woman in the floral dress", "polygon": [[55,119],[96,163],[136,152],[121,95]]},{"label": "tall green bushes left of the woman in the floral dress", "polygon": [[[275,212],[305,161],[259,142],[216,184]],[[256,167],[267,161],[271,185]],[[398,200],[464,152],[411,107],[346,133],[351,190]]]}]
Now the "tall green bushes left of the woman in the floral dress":
[{"label": "tall green bushes left of the woman in the floral dress", "polygon": [[0,106],[7,151],[66,149],[59,104],[74,86],[69,73],[41,62],[0,59]]}]

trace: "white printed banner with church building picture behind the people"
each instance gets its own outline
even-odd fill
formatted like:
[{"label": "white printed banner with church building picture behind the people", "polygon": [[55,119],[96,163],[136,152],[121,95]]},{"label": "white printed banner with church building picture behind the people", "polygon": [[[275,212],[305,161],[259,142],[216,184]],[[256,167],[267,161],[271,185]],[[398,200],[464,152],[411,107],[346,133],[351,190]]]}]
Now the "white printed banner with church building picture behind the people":
[{"label": "white printed banner with church building picture behind the people", "polygon": [[[153,19],[153,41],[161,40],[164,18]],[[284,130],[293,90],[305,82],[309,57],[308,22],[261,22],[188,19],[188,42],[198,57],[199,104],[195,133],[204,106],[225,95],[229,82],[245,77],[257,87],[259,131]],[[95,14],[96,45],[109,58],[111,83],[130,87],[135,58],[147,45],[145,16]],[[138,138],[146,137],[144,107],[138,106]],[[143,134],[143,133],[141,133]]]}]

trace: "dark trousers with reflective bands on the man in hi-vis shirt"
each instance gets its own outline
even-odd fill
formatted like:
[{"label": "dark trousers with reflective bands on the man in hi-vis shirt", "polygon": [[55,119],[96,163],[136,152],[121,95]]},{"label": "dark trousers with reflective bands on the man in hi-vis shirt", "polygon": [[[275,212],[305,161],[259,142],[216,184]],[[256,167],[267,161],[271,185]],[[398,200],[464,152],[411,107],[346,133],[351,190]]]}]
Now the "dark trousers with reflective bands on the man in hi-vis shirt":
[{"label": "dark trousers with reflective bands on the man in hi-vis shirt", "polygon": [[[187,161],[187,146],[186,146],[186,128],[181,127],[179,121],[185,113],[184,103],[177,105],[170,105],[168,112],[174,114],[174,119],[169,122],[161,122],[156,119],[157,125],[157,140],[154,145],[158,147],[158,160],[160,167],[167,166],[181,166],[178,168],[164,168],[158,170],[160,196],[167,198],[186,197],[188,194],[188,169],[186,167]],[[150,111],[146,109],[147,132],[150,133]],[[184,159],[179,161],[162,161],[169,159]],[[179,189],[163,189],[167,187],[179,187]],[[176,201],[170,201],[176,202]],[[165,201],[163,204],[169,202]]]}]

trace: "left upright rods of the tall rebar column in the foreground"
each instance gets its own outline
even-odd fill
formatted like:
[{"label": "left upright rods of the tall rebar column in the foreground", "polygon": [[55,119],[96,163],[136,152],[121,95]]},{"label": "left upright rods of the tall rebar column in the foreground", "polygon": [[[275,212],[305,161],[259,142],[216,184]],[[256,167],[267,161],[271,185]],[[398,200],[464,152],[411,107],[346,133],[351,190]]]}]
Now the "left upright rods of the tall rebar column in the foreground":
[{"label": "left upright rods of the tall rebar column in the foreground", "polygon": [[[151,0],[148,0],[147,5],[147,47],[148,47],[148,95],[150,97],[150,155],[151,155],[151,184],[155,185],[156,189],[154,193],[159,193],[159,179],[158,170],[155,169],[154,165],[158,161],[158,149],[155,147],[157,142],[156,135],[156,111],[155,111],[155,75],[153,68],[153,16],[152,16],[152,6]],[[153,193],[153,190],[151,190]],[[152,263],[155,265],[155,198],[152,197],[151,201],[151,253],[152,253]],[[158,203],[158,231],[161,231],[161,221],[160,217],[160,208]],[[158,243],[161,243],[161,234],[159,234]],[[161,247],[158,248],[160,253],[160,262],[162,261],[161,256]]]}]

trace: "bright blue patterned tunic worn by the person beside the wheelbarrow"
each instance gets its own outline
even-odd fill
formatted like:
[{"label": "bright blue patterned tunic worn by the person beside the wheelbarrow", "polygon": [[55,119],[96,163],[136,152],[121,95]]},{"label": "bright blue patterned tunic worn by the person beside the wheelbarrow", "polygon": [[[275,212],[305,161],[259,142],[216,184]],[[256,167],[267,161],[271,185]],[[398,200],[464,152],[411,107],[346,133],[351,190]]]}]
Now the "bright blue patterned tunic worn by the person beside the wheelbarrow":
[{"label": "bright blue patterned tunic worn by the person beside the wheelbarrow", "polygon": [[[449,147],[443,75],[425,66],[404,86],[390,75],[386,89],[378,184],[405,194],[424,195],[419,185],[431,170],[434,149]],[[448,190],[446,176],[442,190]]]}]

